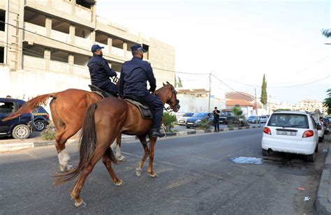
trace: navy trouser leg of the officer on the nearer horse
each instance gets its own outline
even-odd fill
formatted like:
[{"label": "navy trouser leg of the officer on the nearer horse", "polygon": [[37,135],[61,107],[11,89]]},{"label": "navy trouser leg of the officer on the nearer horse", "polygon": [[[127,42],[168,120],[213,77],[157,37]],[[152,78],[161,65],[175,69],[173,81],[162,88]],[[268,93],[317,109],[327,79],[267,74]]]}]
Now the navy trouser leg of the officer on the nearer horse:
[{"label": "navy trouser leg of the officer on the nearer horse", "polygon": [[161,100],[154,94],[148,94],[147,96],[142,96],[139,98],[153,109],[152,112],[154,112],[154,115],[152,128],[159,128],[163,114],[163,104]]}]

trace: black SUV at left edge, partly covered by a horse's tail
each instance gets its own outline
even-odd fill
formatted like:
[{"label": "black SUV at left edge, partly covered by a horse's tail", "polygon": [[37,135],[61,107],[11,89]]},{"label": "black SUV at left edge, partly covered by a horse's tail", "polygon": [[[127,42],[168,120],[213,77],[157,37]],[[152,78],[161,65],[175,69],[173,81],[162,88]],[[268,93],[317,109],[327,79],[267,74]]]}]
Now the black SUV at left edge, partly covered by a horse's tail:
[{"label": "black SUV at left edge, partly covered by a horse's tail", "polygon": [[13,136],[15,139],[26,139],[34,131],[34,115],[26,113],[9,121],[1,119],[16,112],[25,101],[13,98],[0,98],[0,137]]}]

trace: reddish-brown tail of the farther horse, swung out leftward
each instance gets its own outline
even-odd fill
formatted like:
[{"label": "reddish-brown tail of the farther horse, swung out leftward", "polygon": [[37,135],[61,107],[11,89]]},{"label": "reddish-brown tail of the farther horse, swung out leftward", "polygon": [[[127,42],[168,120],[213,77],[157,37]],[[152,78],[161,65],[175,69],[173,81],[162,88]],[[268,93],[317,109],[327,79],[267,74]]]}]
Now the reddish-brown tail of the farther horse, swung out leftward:
[{"label": "reddish-brown tail of the farther horse, swung out leftward", "polygon": [[47,99],[50,97],[57,98],[57,94],[58,93],[44,94],[44,95],[32,98],[29,101],[27,101],[26,103],[24,103],[24,105],[22,105],[22,107],[20,107],[20,109],[17,110],[17,112],[10,114],[8,117],[5,117],[4,119],[2,119],[2,121],[8,121],[10,119],[19,117],[21,114],[31,112],[32,110],[34,110],[34,108],[36,108],[39,105],[46,105]]}]

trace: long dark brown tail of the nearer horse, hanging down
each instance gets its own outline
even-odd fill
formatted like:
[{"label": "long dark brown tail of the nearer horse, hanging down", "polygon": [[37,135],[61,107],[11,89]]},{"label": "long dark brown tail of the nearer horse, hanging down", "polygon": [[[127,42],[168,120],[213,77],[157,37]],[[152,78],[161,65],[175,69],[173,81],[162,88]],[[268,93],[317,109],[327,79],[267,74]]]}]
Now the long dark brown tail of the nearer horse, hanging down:
[{"label": "long dark brown tail of the nearer horse, hanging down", "polygon": [[[77,177],[84,169],[85,164],[91,158],[94,149],[96,149],[96,125],[94,121],[94,112],[96,111],[97,106],[98,105],[96,105],[95,103],[89,105],[84,114],[82,133],[80,135],[80,162],[78,163],[78,167],[75,168],[75,170],[58,173],[57,175],[55,175],[55,177],[57,178],[55,180],[55,184],[64,184],[67,181],[71,181],[72,179]],[[112,150],[110,151],[110,158],[112,162],[117,163],[115,155],[112,153]]]}]

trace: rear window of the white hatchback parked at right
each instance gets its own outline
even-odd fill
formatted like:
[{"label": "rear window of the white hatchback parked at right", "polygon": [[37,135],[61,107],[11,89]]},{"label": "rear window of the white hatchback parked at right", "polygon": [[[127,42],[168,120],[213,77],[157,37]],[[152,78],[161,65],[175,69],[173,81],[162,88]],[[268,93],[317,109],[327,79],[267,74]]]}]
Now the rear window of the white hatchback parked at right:
[{"label": "rear window of the white hatchback parked at right", "polygon": [[267,126],[309,128],[309,123],[307,115],[303,114],[272,114]]}]

